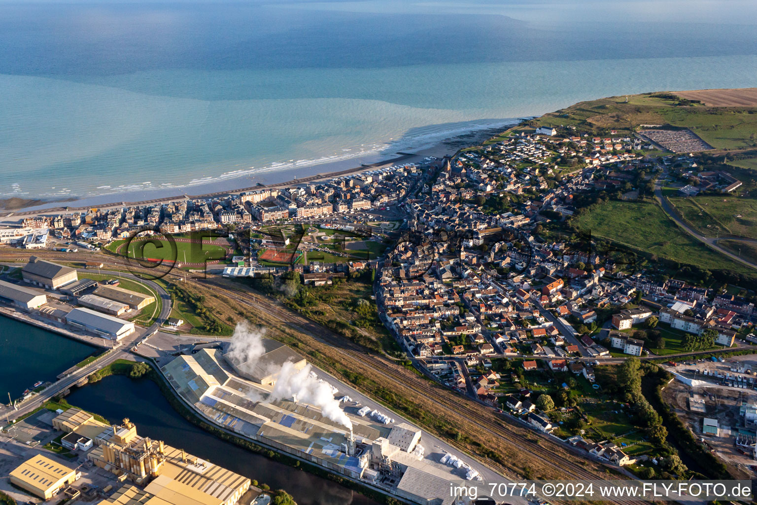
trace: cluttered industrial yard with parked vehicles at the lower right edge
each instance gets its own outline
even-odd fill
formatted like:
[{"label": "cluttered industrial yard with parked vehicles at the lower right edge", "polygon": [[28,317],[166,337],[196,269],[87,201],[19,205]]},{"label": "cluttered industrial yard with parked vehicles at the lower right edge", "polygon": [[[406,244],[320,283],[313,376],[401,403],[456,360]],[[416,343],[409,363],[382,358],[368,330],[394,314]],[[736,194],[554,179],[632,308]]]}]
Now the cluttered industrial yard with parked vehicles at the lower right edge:
[{"label": "cluttered industrial yard with parked vehicles at the lower right edge", "polygon": [[728,464],[755,475],[757,358],[692,360],[665,368],[676,379],[662,397],[696,440]]}]

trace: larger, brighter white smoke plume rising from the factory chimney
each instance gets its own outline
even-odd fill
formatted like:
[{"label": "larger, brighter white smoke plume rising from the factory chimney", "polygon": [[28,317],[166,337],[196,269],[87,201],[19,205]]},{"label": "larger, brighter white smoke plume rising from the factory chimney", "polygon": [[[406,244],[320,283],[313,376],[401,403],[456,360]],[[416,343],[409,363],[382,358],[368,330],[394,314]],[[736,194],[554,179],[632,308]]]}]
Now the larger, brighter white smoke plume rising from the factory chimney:
[{"label": "larger, brighter white smoke plume rising from the factory chimney", "polygon": [[271,400],[285,398],[294,398],[294,401],[318,407],[323,416],[338,422],[352,432],[352,421],[339,407],[339,401],[335,399],[331,386],[310,375],[310,363],[301,370],[294,368],[294,363],[290,361],[284,363],[276,375]]}]

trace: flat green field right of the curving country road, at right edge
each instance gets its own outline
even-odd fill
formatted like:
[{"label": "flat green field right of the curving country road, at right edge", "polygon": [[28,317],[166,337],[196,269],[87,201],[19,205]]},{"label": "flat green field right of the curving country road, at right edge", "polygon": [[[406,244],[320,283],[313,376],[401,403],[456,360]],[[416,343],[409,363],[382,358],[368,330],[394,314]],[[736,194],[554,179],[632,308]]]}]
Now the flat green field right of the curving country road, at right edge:
[{"label": "flat green field right of the curving country road, at right edge", "polygon": [[670,201],[702,235],[757,238],[757,198],[702,195]]}]

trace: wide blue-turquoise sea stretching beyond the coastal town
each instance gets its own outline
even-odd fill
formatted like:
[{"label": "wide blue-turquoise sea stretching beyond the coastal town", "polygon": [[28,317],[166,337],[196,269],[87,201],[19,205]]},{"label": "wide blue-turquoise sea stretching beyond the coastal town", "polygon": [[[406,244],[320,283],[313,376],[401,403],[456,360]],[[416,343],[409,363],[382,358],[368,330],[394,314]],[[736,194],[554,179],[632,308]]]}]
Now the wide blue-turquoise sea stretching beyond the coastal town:
[{"label": "wide blue-turquoise sea stretching beyond the coastal town", "polygon": [[0,200],[280,182],[577,101],[747,86],[753,0],[0,0]]}]

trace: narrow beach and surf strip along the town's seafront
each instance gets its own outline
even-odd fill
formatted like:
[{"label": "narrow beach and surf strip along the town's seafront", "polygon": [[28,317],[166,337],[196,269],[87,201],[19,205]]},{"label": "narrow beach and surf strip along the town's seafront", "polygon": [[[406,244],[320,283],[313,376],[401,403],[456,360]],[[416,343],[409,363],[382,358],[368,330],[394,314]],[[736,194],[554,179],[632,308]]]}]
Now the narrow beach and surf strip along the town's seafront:
[{"label": "narrow beach and surf strip along the town's seafront", "polygon": [[[263,188],[285,188],[291,185],[304,184],[308,182],[317,182],[335,177],[357,175],[379,168],[391,167],[395,164],[417,163],[425,157],[444,157],[454,154],[460,148],[483,142],[497,132],[503,131],[519,123],[519,119],[503,120],[502,126],[488,127],[483,129],[472,129],[467,132],[461,132],[456,136],[447,139],[441,139],[433,145],[425,146],[418,150],[397,151],[391,157],[377,154],[376,161],[363,163],[355,166],[357,161],[353,159],[341,160],[332,163],[313,165],[310,167],[291,168],[261,176],[241,176],[234,179],[200,183],[197,185],[186,186],[185,189],[195,189],[195,194],[186,191],[177,194],[176,189],[154,189],[148,192],[125,192],[114,195],[101,195],[86,198],[68,198],[66,200],[48,201],[38,203],[39,200],[30,199],[32,205],[23,205],[15,209],[0,210],[0,219],[9,223],[14,218],[20,221],[24,217],[33,217],[42,214],[60,214],[76,211],[86,211],[96,207],[98,209],[107,209],[113,207],[148,205],[156,203],[167,203],[170,201],[179,201],[195,198],[213,198],[223,195],[234,195],[240,192],[254,191]],[[383,158],[383,159],[382,159]],[[315,172],[315,173],[313,173]],[[267,175],[267,176],[266,176]],[[302,176],[301,176],[302,175]],[[254,185],[250,185],[254,179],[260,179]],[[273,179],[267,182],[266,179]],[[282,181],[281,179],[285,179]],[[162,195],[158,193],[163,193]],[[151,195],[152,194],[152,195]],[[152,198],[148,198],[152,196]],[[67,204],[70,203],[70,204]]]}]

